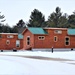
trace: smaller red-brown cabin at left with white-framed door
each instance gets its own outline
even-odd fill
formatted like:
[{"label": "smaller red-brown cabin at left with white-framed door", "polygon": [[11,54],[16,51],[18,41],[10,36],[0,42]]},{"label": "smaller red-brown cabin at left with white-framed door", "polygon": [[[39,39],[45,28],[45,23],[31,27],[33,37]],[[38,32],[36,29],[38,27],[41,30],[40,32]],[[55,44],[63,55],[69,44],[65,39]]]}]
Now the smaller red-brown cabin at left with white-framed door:
[{"label": "smaller red-brown cabin at left with white-framed door", "polygon": [[18,33],[0,33],[0,50],[23,48],[23,39],[18,38]]}]

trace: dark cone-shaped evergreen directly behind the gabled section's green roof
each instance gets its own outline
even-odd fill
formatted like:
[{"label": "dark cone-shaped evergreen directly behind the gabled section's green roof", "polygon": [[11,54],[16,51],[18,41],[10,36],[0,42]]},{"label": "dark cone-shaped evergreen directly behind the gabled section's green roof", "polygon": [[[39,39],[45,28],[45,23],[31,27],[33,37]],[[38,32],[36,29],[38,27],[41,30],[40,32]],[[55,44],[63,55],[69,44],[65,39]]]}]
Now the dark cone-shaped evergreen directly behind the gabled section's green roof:
[{"label": "dark cone-shaped evergreen directly behind the gabled section's green roof", "polygon": [[39,10],[34,9],[33,12],[31,12],[30,20],[27,25],[29,27],[44,27],[45,17]]}]

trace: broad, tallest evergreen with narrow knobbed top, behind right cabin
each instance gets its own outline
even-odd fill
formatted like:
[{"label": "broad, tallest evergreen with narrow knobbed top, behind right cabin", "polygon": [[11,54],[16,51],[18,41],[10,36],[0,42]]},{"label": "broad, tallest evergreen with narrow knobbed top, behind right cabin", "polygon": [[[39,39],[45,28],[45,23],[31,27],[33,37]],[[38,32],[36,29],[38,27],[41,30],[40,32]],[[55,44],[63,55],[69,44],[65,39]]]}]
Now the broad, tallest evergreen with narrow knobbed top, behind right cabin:
[{"label": "broad, tallest evergreen with narrow knobbed top, behind right cabin", "polygon": [[62,15],[61,9],[56,7],[55,12],[51,13],[48,18],[48,27],[67,27],[68,18]]}]

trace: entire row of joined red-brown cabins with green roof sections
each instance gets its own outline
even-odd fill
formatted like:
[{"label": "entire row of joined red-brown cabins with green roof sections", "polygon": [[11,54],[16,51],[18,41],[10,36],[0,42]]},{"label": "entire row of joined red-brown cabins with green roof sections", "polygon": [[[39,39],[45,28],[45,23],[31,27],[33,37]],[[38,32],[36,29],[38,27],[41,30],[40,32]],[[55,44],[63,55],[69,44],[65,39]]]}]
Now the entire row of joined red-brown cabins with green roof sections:
[{"label": "entire row of joined red-brown cabins with green roof sections", "polygon": [[75,29],[26,28],[22,34],[0,33],[0,50],[75,48]]}]

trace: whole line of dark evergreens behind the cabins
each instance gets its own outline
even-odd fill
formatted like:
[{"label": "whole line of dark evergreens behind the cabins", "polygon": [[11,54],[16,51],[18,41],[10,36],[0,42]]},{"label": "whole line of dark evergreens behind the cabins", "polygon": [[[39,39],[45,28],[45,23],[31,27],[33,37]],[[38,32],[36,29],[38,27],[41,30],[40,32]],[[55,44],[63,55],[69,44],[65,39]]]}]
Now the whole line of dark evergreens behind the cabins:
[{"label": "whole line of dark evergreens behind the cabins", "polygon": [[[2,20],[3,18],[4,16],[0,15],[0,19]],[[75,28],[75,12],[68,15],[67,13],[62,13],[60,7],[56,7],[55,11],[48,16],[48,20],[46,21],[43,13],[38,9],[34,9],[27,23],[25,23],[23,19],[19,20],[13,27],[0,23],[0,33],[17,33],[25,27]]]}]

